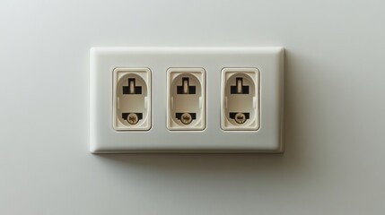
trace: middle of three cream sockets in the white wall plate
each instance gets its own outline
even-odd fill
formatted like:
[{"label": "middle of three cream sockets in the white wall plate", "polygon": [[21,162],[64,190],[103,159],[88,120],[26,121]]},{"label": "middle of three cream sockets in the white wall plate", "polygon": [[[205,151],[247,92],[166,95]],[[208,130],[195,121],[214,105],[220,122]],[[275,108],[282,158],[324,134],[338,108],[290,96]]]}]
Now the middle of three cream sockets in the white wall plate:
[{"label": "middle of three cream sockets in the white wall plate", "polygon": [[204,130],[206,127],[205,69],[168,69],[167,90],[167,128],[169,130]]}]

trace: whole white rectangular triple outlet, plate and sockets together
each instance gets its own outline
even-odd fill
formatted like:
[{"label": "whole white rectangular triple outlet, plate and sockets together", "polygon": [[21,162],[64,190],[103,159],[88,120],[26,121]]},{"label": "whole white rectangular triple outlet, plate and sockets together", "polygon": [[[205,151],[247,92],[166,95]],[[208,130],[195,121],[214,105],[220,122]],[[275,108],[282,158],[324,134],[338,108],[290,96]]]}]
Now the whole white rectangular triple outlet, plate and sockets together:
[{"label": "whole white rectangular triple outlet, plate and sockets together", "polygon": [[282,47],[92,47],[90,78],[93,153],[283,152]]}]

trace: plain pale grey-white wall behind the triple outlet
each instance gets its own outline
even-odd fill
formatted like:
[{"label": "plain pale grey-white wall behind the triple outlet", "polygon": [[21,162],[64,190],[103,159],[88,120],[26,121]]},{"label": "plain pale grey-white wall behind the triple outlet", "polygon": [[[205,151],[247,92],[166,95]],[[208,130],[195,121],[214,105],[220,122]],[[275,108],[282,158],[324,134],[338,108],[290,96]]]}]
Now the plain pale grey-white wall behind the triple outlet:
[{"label": "plain pale grey-white wall behind the triple outlet", "polygon": [[[383,1],[0,3],[0,214],[383,214]],[[92,46],[283,46],[283,155],[92,155]]]}]

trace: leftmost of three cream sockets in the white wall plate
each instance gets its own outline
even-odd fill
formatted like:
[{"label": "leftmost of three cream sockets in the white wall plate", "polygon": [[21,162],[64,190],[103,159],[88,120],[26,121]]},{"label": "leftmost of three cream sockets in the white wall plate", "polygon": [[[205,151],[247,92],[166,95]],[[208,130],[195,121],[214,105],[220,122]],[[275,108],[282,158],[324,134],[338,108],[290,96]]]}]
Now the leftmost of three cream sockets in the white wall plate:
[{"label": "leftmost of three cream sockets in the white wall plate", "polygon": [[151,70],[113,70],[113,127],[116,131],[151,128]]}]

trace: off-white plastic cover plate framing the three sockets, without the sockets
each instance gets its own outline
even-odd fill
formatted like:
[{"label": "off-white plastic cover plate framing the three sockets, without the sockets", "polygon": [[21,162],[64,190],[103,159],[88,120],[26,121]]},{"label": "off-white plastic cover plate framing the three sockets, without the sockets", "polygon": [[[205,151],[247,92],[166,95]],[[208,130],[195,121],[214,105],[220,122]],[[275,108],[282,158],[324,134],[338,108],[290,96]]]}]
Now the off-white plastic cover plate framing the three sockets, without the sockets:
[{"label": "off-white plastic cover plate framing the three sockets, without the sockets", "polygon": [[[116,131],[113,124],[115,68],[152,71],[152,126],[148,131]],[[167,70],[204,68],[206,128],[167,128]],[[257,131],[221,128],[223,68],[258,68],[260,119]],[[122,152],[282,152],[284,49],[282,47],[94,47],[91,49],[90,150]]]}]

